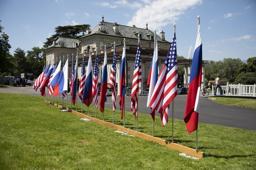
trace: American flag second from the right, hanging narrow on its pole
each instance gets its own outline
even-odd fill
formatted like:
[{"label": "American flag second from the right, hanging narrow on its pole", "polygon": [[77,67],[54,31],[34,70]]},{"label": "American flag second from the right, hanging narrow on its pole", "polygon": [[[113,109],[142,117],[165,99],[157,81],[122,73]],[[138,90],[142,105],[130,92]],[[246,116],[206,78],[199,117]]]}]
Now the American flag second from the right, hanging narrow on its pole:
[{"label": "American flag second from the right, hanging narrow on its pole", "polygon": [[138,97],[139,97],[139,82],[141,82],[141,60],[140,60],[140,47],[138,45],[133,79],[132,79],[132,95],[131,95],[131,111],[135,115],[135,118],[138,116]]}]

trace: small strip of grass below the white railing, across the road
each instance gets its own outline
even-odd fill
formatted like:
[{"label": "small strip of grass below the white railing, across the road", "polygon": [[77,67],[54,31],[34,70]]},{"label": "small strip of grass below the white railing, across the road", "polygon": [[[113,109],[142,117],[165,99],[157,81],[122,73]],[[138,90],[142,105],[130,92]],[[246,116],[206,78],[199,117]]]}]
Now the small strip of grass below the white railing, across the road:
[{"label": "small strip of grass below the white railing, across the road", "polygon": [[222,105],[239,106],[239,107],[256,109],[256,99],[225,98],[225,97],[208,97],[208,99]]}]

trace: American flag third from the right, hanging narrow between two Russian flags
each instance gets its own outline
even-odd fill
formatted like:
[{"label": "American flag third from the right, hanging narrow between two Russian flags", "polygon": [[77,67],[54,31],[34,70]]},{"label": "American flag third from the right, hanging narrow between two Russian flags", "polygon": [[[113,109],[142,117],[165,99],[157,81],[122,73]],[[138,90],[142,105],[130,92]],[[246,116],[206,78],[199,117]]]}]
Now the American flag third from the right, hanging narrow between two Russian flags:
[{"label": "American flag third from the right, hanging narrow between two Russian flags", "polygon": [[116,72],[117,72],[117,50],[114,51],[114,58],[110,73],[110,88],[112,89],[113,112],[116,110]]}]

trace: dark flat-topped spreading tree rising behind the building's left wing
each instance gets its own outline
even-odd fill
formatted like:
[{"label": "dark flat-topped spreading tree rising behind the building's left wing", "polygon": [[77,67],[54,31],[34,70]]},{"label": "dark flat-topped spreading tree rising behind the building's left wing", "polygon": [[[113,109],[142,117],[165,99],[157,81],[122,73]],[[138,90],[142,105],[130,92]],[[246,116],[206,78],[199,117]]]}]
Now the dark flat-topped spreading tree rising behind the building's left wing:
[{"label": "dark flat-topped spreading tree rising behind the building's left wing", "polygon": [[[91,25],[84,24],[84,25],[67,25],[67,26],[57,26],[55,28],[56,34],[51,35],[50,38],[46,39],[44,43],[44,48],[51,46],[53,41],[56,41],[60,37],[70,37],[70,38],[79,38],[84,35],[86,29],[90,28]],[[82,33],[82,35],[78,35]]]}]

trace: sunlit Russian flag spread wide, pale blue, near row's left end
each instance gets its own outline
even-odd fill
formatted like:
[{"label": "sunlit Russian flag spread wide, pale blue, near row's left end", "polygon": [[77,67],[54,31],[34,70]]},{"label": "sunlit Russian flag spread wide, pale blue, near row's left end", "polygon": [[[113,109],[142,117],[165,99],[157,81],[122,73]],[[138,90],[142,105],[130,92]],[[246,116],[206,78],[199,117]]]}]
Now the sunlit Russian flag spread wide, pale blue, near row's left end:
[{"label": "sunlit Russian flag spread wide, pale blue, near row's left end", "polygon": [[63,67],[63,70],[59,76],[59,80],[55,85],[55,89],[53,91],[52,97],[55,97],[59,94],[62,94],[68,91],[68,68],[69,68],[68,65],[69,65],[69,60],[67,59]]}]

